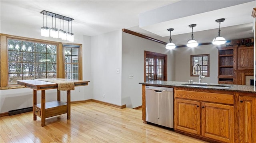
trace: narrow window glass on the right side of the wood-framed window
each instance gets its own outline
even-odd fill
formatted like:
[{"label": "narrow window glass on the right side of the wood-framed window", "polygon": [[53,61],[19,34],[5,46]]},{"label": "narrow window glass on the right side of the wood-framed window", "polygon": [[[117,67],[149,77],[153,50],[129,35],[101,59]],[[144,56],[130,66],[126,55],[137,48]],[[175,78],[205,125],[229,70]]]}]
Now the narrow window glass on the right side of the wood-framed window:
[{"label": "narrow window glass on the right side of the wood-framed window", "polygon": [[78,79],[78,47],[64,47],[65,78]]}]

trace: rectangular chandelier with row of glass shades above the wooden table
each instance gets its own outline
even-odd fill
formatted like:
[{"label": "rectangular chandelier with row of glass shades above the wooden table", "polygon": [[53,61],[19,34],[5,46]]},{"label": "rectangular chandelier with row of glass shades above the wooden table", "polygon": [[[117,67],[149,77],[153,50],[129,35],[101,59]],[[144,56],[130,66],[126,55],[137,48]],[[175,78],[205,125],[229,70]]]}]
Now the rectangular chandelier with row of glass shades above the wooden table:
[{"label": "rectangular chandelier with row of glass shades above the wooden table", "polygon": [[[67,40],[70,42],[74,41],[74,33],[72,33],[72,20],[73,18],[68,18],[66,16],[61,16],[59,14],[54,14],[52,12],[48,12],[46,10],[43,10],[40,12],[43,14],[43,27],[41,27],[41,36],[44,37],[53,37],[53,38],[60,38],[62,40]],[[44,26],[44,15],[46,18],[46,26]],[[47,27],[47,16],[52,17],[52,28]],[[55,18],[55,26],[53,26],[53,19]],[[56,18],[60,19],[60,29],[56,28]],[[62,22],[63,20],[63,29],[62,29]],[[64,21],[68,21],[68,32],[65,31],[64,29]],[[69,22],[71,22],[71,31],[69,31]]]}]

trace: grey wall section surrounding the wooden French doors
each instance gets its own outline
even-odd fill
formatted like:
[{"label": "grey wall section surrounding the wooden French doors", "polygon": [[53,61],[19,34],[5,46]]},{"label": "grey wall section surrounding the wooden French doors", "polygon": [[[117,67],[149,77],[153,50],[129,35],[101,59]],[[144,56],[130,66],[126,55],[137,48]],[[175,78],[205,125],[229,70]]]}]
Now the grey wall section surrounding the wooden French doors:
[{"label": "grey wall section surrounding the wooden French doors", "polygon": [[[142,105],[144,81],[144,51],[166,54],[167,78],[175,80],[175,52],[166,50],[165,45],[122,32],[122,104],[135,108]],[[132,74],[134,78],[129,79]]]}]

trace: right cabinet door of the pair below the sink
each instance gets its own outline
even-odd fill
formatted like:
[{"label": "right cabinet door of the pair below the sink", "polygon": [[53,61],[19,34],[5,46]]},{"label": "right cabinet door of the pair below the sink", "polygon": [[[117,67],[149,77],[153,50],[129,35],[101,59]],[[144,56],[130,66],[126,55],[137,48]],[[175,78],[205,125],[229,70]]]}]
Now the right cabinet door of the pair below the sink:
[{"label": "right cabinet door of the pair below the sink", "polygon": [[234,106],[202,102],[202,135],[234,142]]}]

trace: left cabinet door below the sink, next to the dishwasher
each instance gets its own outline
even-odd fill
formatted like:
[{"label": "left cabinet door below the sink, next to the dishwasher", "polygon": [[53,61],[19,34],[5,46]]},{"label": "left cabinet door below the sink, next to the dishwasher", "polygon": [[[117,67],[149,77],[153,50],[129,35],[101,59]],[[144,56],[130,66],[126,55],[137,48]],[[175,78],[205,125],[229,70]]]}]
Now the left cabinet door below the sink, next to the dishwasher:
[{"label": "left cabinet door below the sink, next to the dishwasher", "polygon": [[200,135],[200,101],[175,98],[174,129]]}]

